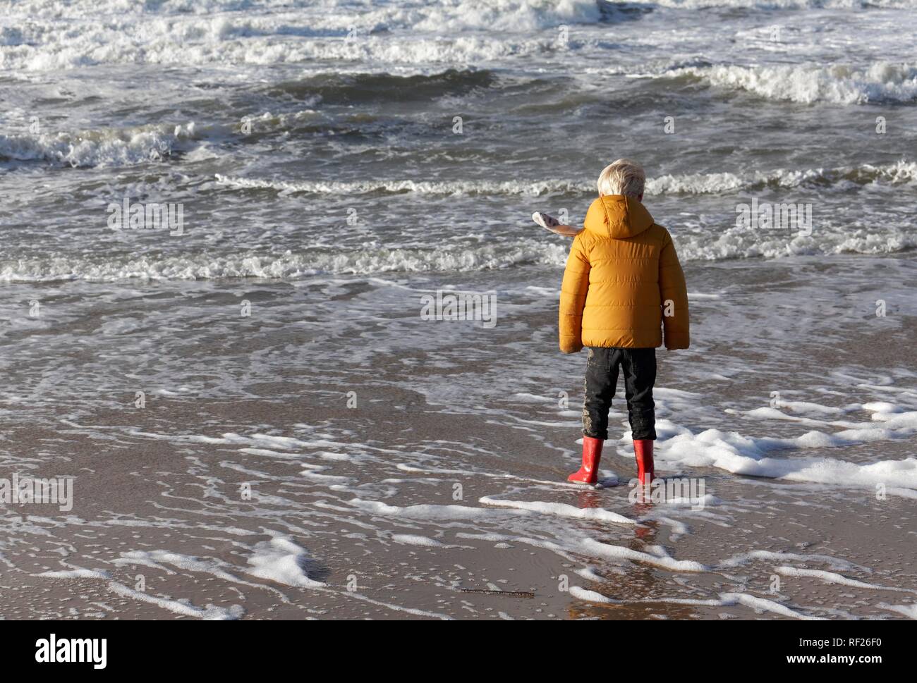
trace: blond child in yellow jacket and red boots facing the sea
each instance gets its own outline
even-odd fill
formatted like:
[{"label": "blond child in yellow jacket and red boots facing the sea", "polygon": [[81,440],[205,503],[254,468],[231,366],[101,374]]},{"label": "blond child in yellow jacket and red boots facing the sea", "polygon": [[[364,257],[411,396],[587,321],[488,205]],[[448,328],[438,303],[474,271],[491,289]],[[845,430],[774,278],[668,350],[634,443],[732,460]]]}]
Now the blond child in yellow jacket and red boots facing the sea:
[{"label": "blond child in yellow jacket and red boots facing the sea", "polygon": [[[599,198],[570,248],[560,288],[560,350],[589,347],[582,407],[582,467],[569,481],[598,481],[619,368],[637,476],[654,478],[656,347],[688,348],[688,292],[668,230],[644,208],[646,174],[619,159],[599,176]],[[547,218],[548,216],[545,216]]]}]

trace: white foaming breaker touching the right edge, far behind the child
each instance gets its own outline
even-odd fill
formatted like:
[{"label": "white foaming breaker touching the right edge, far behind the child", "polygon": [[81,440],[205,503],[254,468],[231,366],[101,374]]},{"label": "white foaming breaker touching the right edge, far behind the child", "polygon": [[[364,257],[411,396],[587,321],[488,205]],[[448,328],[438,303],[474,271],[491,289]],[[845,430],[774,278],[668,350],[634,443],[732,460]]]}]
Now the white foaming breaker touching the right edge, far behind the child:
[{"label": "white foaming breaker touching the right edge, far behind the child", "polygon": [[710,66],[675,69],[657,78],[688,78],[744,90],[768,100],[836,105],[917,100],[917,66],[878,61],[866,69],[834,66]]}]

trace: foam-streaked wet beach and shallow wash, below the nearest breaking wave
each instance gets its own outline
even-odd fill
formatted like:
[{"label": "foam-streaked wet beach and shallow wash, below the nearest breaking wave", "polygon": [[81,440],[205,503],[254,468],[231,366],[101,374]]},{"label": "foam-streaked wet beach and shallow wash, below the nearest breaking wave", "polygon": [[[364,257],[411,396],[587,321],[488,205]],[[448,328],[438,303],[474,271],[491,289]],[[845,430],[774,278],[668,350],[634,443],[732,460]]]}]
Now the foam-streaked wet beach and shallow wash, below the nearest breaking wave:
[{"label": "foam-streaked wet beach and shallow wash, below the nearest breaking wave", "polygon": [[[17,294],[48,302],[44,344],[7,336],[21,393],[6,395],[17,450],[4,465],[72,477],[74,494],[69,512],[5,507],[3,584],[29,597],[3,616],[912,617],[913,304],[889,292],[894,314],[866,334],[868,288],[756,336],[729,324],[775,281],[806,302],[807,270],[858,260],[688,267],[701,341],[660,356],[657,468],[702,479],[702,506],[628,501],[620,403],[602,469],[620,484],[564,481],[584,357],[551,347],[556,301],[530,293],[550,270],[489,276],[492,329],[421,320],[425,278],[157,283],[117,298],[30,285]],[[914,284],[910,259],[876,267]],[[85,303],[56,317],[68,299]],[[332,309],[350,325],[324,325]],[[151,324],[153,311],[179,319]],[[43,379],[63,372],[66,384]]]}]

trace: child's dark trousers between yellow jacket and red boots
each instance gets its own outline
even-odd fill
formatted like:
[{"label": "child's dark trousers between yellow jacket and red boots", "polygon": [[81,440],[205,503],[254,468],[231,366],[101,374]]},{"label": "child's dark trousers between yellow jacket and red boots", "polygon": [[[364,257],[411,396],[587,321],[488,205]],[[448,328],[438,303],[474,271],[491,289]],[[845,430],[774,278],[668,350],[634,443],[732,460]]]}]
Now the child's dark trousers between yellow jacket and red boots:
[{"label": "child's dark trousers between yellow jacket and red boots", "polygon": [[586,360],[586,397],[582,403],[583,435],[608,438],[608,410],[612,407],[619,368],[624,370],[624,397],[634,438],[655,439],[655,348],[590,347]]}]

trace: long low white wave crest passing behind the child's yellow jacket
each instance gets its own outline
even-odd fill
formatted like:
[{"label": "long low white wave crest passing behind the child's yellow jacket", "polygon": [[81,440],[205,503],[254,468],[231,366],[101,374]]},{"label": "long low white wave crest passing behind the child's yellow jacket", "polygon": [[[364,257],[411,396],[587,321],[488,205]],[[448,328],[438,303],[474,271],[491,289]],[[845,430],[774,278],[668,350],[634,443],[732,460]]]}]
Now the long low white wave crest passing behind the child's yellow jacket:
[{"label": "long low white wave crest passing behind the child's yellow jacket", "polygon": [[[532,228],[535,230],[536,228]],[[670,225],[682,261],[780,259],[788,256],[835,254],[894,254],[917,248],[917,236],[898,229],[881,233],[864,229],[820,230],[812,235],[724,226],[702,233]],[[468,248],[326,248],[280,255],[232,253],[215,256],[117,257],[55,256],[0,259],[0,281],[131,281],[223,280],[255,278],[294,281],[320,275],[383,275],[386,273],[480,272],[523,266],[562,268],[569,240],[548,236],[501,239]]]}]

